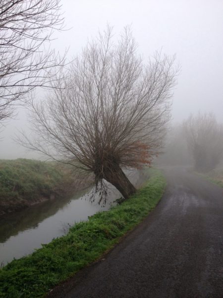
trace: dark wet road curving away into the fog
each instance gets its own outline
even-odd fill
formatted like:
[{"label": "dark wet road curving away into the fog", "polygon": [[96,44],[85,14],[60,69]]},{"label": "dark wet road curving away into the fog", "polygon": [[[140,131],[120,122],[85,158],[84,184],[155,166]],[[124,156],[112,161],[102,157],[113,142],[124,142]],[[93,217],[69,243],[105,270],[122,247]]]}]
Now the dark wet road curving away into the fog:
[{"label": "dark wet road curving away into the fog", "polygon": [[157,208],[54,298],[223,298],[223,190],[166,168]]}]

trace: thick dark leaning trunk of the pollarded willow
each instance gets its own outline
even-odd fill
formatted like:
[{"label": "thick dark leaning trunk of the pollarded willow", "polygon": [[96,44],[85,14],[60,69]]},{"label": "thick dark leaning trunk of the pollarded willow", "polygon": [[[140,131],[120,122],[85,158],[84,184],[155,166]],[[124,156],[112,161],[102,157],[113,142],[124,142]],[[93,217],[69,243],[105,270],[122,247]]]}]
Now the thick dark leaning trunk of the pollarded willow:
[{"label": "thick dark leaning trunk of the pollarded willow", "polygon": [[104,178],[117,188],[124,199],[128,199],[129,196],[136,192],[136,188],[128,180],[125,173],[119,166],[112,167],[111,170],[106,170],[104,172]]}]

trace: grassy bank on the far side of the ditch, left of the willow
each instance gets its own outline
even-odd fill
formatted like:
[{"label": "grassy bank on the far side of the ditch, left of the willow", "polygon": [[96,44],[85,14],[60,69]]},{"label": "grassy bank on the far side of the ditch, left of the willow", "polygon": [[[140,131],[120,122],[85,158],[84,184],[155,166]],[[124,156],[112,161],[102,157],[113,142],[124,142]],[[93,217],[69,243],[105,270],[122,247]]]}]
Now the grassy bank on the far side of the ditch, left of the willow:
[{"label": "grassy bank on the far side of the ditch, left of the willow", "polygon": [[67,167],[50,161],[0,160],[0,215],[65,195],[76,180]]}]

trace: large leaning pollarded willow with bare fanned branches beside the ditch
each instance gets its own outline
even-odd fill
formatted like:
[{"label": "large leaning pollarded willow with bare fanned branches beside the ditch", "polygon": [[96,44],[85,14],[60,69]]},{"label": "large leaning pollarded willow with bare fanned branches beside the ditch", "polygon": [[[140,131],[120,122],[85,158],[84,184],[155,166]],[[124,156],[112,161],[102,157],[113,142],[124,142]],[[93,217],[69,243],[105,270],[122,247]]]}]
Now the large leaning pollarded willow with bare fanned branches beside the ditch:
[{"label": "large leaning pollarded willow with bare fanned branches beside the ditch", "polygon": [[23,146],[93,172],[127,199],[136,190],[123,168],[150,164],[169,120],[174,57],[147,65],[129,28],[113,42],[111,28],[74,59],[69,78],[43,103],[32,104],[34,140]]}]

